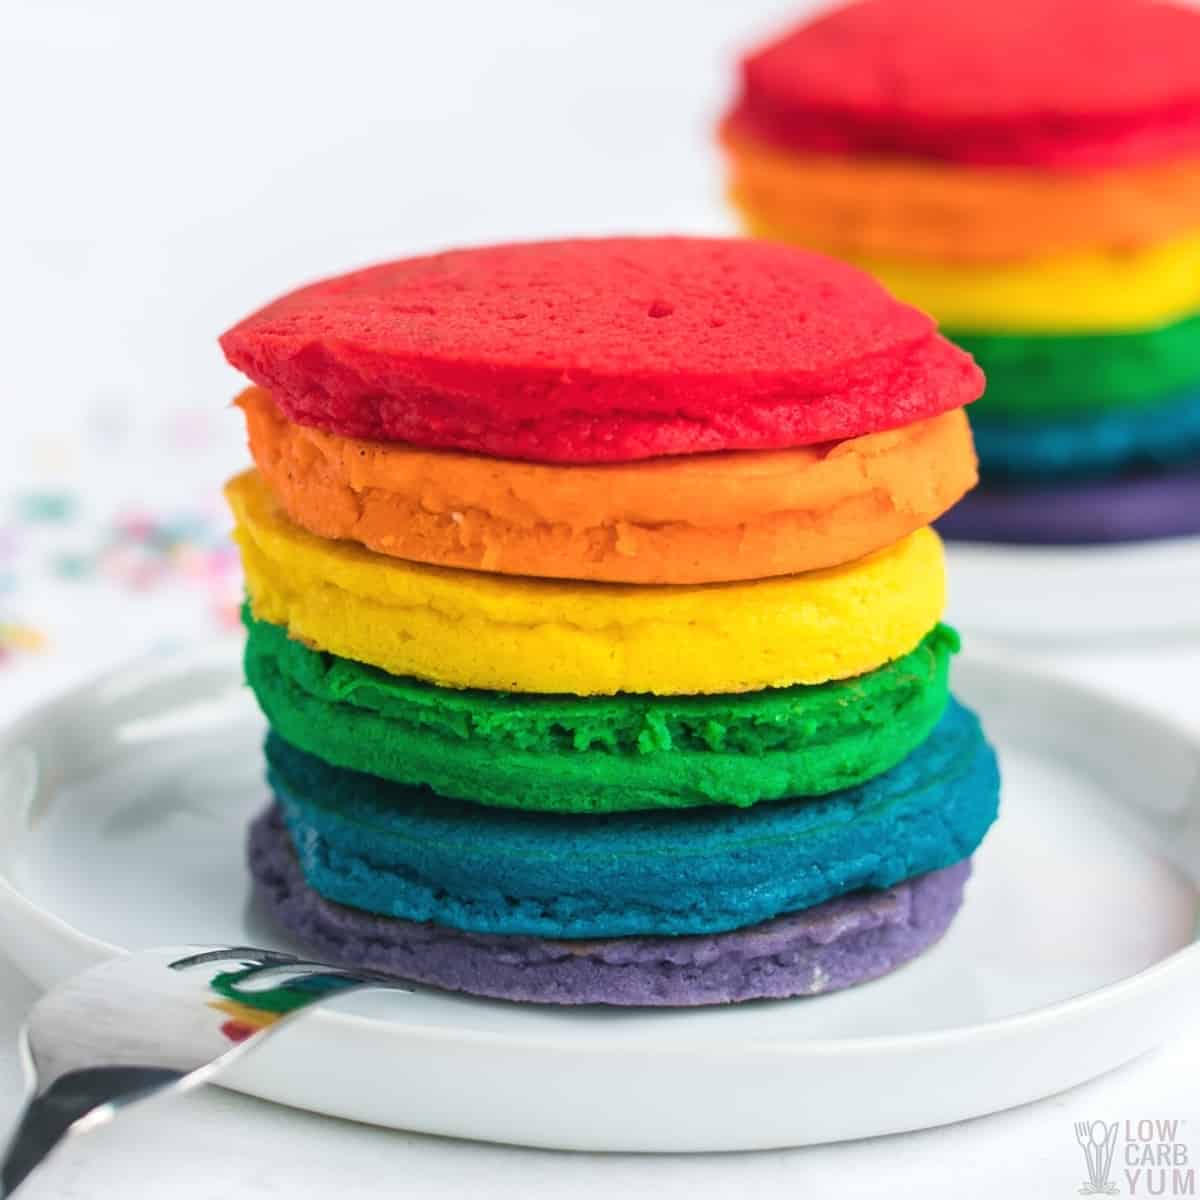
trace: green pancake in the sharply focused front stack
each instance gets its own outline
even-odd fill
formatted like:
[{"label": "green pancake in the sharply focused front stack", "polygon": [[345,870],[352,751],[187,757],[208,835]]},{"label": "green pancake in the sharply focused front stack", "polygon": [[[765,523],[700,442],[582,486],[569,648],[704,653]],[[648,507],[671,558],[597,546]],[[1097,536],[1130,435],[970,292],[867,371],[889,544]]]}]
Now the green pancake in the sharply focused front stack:
[{"label": "green pancake in the sharply focused front stack", "polygon": [[817,686],[728,696],[456,691],[307,649],[245,614],[246,677],[284,740],[337,767],[542,812],[822,796],[914,750],[949,697],[954,630]]}]

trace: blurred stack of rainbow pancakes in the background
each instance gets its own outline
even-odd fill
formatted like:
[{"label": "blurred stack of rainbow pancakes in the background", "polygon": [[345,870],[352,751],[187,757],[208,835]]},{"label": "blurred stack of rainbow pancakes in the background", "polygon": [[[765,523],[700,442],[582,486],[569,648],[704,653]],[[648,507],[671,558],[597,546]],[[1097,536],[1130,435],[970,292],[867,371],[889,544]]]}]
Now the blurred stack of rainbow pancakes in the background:
[{"label": "blurred stack of rainbow pancakes in the background", "polygon": [[854,262],[988,376],[988,541],[1200,533],[1200,12],[868,0],[751,54],[750,232]]}]

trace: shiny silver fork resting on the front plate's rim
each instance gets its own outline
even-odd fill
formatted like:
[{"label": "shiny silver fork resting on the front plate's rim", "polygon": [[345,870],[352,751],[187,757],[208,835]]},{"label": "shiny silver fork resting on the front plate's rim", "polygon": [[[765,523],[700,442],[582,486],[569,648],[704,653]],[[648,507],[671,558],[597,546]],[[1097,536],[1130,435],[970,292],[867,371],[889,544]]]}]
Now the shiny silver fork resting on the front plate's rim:
[{"label": "shiny silver fork resting on the front plate's rim", "polygon": [[0,1158],[0,1200],[64,1139],[211,1081],[298,1013],[362,988],[412,991],[386,976],[245,946],[143,950],[60,984],[22,1031],[28,1094]]}]

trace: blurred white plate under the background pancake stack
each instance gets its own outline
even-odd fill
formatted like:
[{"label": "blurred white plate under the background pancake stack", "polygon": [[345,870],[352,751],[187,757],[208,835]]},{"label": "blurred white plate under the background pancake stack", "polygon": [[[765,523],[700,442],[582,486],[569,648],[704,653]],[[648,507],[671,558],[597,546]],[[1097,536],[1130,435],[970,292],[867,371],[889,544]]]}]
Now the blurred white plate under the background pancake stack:
[{"label": "blurred white plate under the background pancake stack", "polygon": [[1200,538],[1127,546],[947,542],[948,619],[1006,641],[1200,632]]}]

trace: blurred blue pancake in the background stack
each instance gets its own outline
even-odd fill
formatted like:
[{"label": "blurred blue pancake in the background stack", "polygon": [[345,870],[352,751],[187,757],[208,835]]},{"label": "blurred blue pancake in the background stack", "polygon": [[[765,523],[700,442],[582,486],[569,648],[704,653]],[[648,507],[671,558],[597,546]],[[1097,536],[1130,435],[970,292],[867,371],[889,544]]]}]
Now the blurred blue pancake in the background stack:
[{"label": "blurred blue pancake in the background stack", "polygon": [[1200,454],[1200,391],[1085,420],[1028,425],[972,418],[971,428],[988,484],[1168,466]]}]

